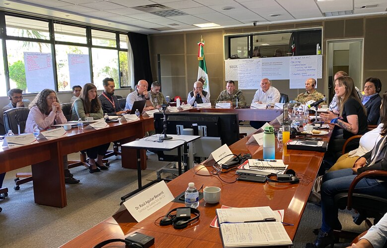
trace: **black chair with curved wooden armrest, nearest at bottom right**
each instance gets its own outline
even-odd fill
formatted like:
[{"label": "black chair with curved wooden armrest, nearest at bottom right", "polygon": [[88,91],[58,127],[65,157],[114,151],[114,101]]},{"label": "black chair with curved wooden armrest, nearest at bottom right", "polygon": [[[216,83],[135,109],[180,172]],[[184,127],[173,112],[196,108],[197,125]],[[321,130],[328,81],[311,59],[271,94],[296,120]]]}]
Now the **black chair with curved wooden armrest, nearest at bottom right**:
[{"label": "black chair with curved wooden armrest, nearest at bottom right", "polygon": [[[387,180],[387,171],[384,170],[369,170],[357,175],[347,193],[339,193],[334,196],[334,202],[340,209],[352,208],[358,212],[354,219],[355,224],[360,225],[366,221],[366,225],[371,226],[371,222],[367,218],[374,218],[374,225],[387,212],[387,198],[370,196],[367,194],[354,193],[356,184],[363,178],[377,177],[382,180]],[[358,234],[346,231],[335,231],[334,235],[340,238],[353,239]]]}]

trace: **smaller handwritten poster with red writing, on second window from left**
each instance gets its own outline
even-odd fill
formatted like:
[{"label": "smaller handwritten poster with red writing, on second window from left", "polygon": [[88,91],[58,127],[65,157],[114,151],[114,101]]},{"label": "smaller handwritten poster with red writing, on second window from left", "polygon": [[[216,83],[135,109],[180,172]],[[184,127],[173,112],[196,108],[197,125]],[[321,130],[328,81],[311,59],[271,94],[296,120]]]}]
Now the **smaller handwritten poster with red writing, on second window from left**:
[{"label": "smaller handwritten poster with red writing, on second window from left", "polygon": [[89,54],[67,54],[70,87],[91,83]]}]

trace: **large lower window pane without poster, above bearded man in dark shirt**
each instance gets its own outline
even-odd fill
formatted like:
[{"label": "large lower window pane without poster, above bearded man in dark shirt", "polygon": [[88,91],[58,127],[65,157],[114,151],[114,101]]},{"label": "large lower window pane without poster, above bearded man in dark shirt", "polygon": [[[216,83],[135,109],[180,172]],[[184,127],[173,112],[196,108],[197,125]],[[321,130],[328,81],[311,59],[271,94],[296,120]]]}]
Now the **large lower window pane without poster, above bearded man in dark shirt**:
[{"label": "large lower window pane without poster, above bearded man in dark shirt", "polygon": [[107,77],[113,78],[116,87],[119,88],[120,77],[118,73],[118,51],[92,48],[91,55],[93,59],[93,80],[97,89],[104,89],[102,86],[102,80]]}]

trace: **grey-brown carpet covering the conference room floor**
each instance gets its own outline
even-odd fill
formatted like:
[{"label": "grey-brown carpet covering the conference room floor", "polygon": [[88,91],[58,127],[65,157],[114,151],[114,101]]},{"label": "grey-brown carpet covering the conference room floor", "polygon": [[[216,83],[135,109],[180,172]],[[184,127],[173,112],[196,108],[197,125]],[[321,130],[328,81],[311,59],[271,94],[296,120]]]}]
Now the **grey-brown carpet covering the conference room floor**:
[{"label": "grey-brown carpet covering the conference room floor", "polygon": [[[240,130],[241,133],[253,131],[246,125]],[[143,184],[156,179],[155,170],[168,164],[157,161],[154,153],[147,152],[147,155],[147,169],[142,171]],[[79,159],[79,154],[70,154],[68,159]],[[114,214],[120,207],[120,198],[137,188],[137,173],[134,169],[123,169],[120,159],[112,159],[109,159],[109,170],[100,173],[90,174],[83,166],[70,170],[80,183],[66,185],[67,206],[64,208],[35,204],[32,182],[21,185],[19,191],[13,190],[16,171],[8,172],[3,183],[3,187],[8,187],[8,197],[0,199],[3,209],[0,213],[0,247],[59,247]],[[30,170],[25,167],[17,171]],[[182,190],[185,188],[186,185],[182,185]],[[294,247],[302,248],[315,239],[312,230],[321,225],[320,209],[314,204],[307,205]],[[344,230],[365,230],[364,226],[353,224],[349,211],[340,211],[340,220]]]}]

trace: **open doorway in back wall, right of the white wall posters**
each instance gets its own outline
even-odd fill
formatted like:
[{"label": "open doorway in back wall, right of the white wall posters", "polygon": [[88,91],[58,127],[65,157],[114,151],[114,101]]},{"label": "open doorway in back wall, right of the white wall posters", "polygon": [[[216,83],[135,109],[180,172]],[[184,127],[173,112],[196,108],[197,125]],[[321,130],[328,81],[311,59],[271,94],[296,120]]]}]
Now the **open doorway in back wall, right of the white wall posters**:
[{"label": "open doorway in back wall, right of the white wall posters", "polygon": [[327,95],[334,96],[333,77],[337,71],[345,71],[353,78],[355,86],[363,91],[363,44],[364,39],[327,40]]}]

